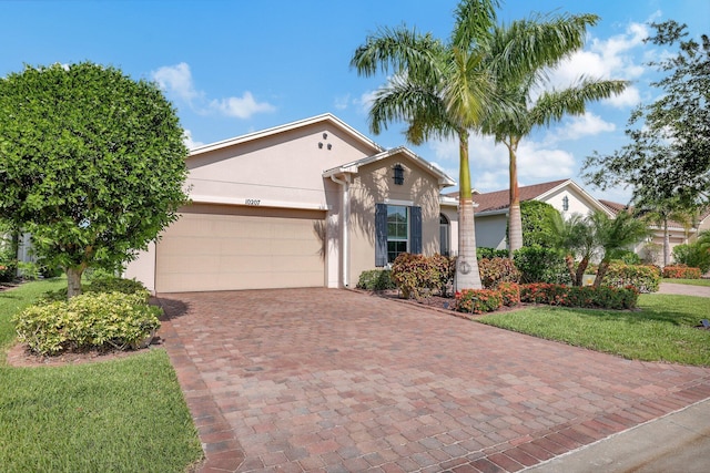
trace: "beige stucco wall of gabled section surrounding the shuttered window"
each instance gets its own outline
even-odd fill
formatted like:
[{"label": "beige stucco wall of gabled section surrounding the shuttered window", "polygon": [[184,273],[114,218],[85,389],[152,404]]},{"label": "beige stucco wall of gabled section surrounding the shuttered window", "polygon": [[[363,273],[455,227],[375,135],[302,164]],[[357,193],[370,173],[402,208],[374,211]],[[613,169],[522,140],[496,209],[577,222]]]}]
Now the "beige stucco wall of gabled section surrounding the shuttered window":
[{"label": "beige stucco wall of gabled section surrounding the shuttered window", "polygon": [[[392,167],[400,164],[404,185],[395,185]],[[394,155],[358,169],[351,185],[351,286],[362,271],[375,269],[375,204],[415,205],[422,207],[422,251],[439,250],[438,183],[428,172],[404,156]]]}]

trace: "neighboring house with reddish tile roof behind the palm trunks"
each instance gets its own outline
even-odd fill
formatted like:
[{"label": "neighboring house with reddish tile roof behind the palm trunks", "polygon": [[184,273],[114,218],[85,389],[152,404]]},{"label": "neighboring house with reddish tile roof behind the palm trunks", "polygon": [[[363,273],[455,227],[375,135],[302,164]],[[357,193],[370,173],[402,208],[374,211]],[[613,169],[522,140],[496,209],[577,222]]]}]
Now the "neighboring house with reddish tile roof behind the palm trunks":
[{"label": "neighboring house with reddish tile roof behind the palm trunks", "polygon": [[[587,215],[594,210],[605,212],[610,217],[616,215],[572,179],[523,186],[519,191],[520,202],[545,202],[559,210],[562,216],[572,214]],[[440,202],[443,216],[453,222],[452,227],[454,227],[457,219],[458,193],[443,195]],[[506,229],[508,225],[508,208],[510,206],[508,189],[484,194],[474,192],[474,204],[476,205],[476,246],[507,249]],[[452,243],[453,254],[456,254],[458,249],[455,239]]]}]

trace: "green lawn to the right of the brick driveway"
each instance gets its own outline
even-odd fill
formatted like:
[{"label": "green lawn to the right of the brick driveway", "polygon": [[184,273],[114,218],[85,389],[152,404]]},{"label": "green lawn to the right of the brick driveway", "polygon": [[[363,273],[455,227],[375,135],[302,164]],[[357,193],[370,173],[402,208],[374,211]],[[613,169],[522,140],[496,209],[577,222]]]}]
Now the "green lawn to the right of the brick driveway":
[{"label": "green lawn to the right of the brick driveway", "polygon": [[694,328],[707,317],[707,298],[641,295],[639,307],[639,311],[535,307],[478,320],[628,359],[710,366],[710,331]]}]

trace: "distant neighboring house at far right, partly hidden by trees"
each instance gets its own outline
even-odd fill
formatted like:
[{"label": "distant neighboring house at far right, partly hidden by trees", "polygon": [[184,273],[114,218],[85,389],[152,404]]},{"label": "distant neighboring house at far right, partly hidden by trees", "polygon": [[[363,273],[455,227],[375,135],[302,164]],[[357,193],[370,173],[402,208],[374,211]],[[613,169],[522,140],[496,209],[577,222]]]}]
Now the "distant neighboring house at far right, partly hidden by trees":
[{"label": "distant neighboring house at far right, partly hidden by trees", "polygon": [[[611,200],[600,199],[605,206],[607,206],[613,214],[618,214],[625,210],[627,206]],[[663,227],[652,225],[650,227],[653,235],[647,241],[639,243],[635,251],[643,259],[652,260],[656,264],[662,264],[662,247],[663,247]],[[698,237],[698,234],[704,230],[710,230],[710,208],[704,209],[698,216],[698,219],[692,225],[687,226],[679,222],[668,222],[668,235],[670,243],[670,250],[672,257],[672,250],[678,245],[687,245],[692,243]],[[651,247],[648,244],[652,244]]]}]

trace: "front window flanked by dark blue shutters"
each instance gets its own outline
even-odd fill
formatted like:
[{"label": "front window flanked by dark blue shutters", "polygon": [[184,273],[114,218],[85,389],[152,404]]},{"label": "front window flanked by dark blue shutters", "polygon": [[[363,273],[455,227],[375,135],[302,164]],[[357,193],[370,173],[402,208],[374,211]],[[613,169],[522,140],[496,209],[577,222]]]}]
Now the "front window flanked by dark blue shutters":
[{"label": "front window flanked by dark blue shutters", "polygon": [[422,253],[422,208],[375,204],[375,266],[386,266],[407,251]]}]

